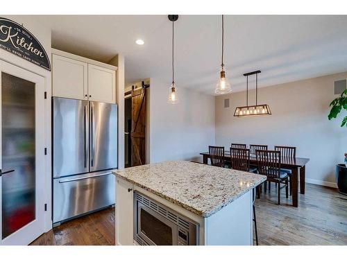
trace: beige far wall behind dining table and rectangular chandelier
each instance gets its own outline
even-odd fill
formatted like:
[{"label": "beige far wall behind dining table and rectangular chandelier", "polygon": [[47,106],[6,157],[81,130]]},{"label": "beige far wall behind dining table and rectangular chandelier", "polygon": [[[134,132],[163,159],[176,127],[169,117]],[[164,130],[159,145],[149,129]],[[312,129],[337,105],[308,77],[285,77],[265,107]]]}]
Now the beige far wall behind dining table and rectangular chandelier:
[{"label": "beige far wall behind dining table and rectangular chandelier", "polygon": [[[335,186],[335,164],[344,162],[347,152],[346,128],[339,126],[346,112],[332,121],[328,113],[336,97],[333,80],[341,78],[347,78],[347,72],[259,89],[258,103],[269,104],[271,116],[234,117],[235,107],[245,105],[245,92],[216,97],[216,144],[296,146],[298,157],[310,158],[306,182]],[[250,103],[254,94],[250,92]],[[224,98],[230,98],[228,109],[223,108]]]}]

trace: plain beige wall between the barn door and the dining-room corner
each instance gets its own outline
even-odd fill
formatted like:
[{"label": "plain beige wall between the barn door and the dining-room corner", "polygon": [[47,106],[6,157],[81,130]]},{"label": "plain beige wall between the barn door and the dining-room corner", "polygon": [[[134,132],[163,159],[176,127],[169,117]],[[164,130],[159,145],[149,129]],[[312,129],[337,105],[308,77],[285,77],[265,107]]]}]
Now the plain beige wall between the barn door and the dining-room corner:
[{"label": "plain beige wall between the barn door and the dining-room corner", "polygon": [[199,153],[214,144],[214,96],[178,85],[180,103],[168,104],[169,85],[151,78],[151,163],[201,159]]}]

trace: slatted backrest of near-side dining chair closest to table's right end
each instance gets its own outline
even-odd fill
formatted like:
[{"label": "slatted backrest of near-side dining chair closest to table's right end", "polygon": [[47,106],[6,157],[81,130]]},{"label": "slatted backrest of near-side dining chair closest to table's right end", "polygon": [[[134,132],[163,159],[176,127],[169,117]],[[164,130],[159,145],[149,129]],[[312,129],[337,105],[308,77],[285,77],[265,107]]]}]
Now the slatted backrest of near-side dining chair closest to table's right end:
[{"label": "slatted backrest of near-side dining chair closest to table's right end", "polygon": [[258,172],[269,178],[280,177],[281,154],[278,150],[256,150]]}]

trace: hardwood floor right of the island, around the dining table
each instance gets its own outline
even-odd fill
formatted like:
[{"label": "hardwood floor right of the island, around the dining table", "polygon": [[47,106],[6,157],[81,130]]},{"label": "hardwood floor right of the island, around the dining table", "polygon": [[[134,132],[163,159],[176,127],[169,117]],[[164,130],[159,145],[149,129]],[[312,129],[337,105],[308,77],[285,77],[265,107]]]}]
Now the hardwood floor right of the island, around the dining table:
[{"label": "hardwood floor right of the island, around the dining table", "polygon": [[[263,189],[264,190],[264,189]],[[282,195],[283,193],[283,195]],[[255,200],[260,245],[347,245],[347,196],[337,189],[306,184],[298,207],[291,196],[277,205],[275,184]]]}]

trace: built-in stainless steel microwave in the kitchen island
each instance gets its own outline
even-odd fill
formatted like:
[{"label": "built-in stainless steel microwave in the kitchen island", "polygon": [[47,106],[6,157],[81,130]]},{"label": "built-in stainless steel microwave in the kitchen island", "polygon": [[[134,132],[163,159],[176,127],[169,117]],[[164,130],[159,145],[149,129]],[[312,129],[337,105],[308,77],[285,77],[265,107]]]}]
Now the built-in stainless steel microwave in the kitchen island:
[{"label": "built-in stainless steel microwave in the kitchen island", "polygon": [[134,240],[139,245],[198,245],[199,225],[134,192]]}]

